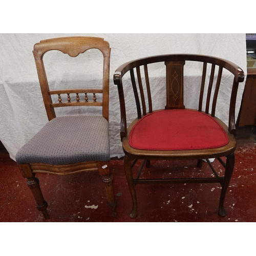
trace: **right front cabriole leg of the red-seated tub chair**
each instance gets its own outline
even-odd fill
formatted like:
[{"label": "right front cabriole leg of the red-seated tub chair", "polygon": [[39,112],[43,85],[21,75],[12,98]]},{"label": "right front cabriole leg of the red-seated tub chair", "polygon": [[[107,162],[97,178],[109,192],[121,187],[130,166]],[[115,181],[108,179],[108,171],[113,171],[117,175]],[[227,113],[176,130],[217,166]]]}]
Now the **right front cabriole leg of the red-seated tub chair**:
[{"label": "right front cabriole leg of the red-seated tub chair", "polygon": [[227,161],[226,161],[224,182],[222,184],[220,205],[219,205],[219,215],[222,216],[222,217],[225,217],[227,215],[227,212],[224,208],[224,200],[225,200],[228,185],[229,185],[232,173],[233,173],[233,168],[234,168],[234,153],[228,155],[227,156]]}]

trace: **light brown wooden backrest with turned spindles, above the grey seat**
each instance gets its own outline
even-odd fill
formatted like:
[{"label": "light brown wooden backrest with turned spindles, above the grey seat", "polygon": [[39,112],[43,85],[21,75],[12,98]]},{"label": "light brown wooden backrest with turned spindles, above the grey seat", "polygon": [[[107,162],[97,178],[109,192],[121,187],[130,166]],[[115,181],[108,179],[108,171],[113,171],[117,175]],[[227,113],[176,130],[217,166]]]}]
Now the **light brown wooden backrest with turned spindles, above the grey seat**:
[{"label": "light brown wooden backrest with turned spindles, above the grey seat", "polygon": [[[51,50],[61,51],[71,57],[76,57],[90,49],[98,49],[103,55],[103,79],[102,89],[72,89],[50,91],[45,71],[43,57]],[[98,37],[59,37],[41,40],[34,46],[33,55],[35,58],[42,98],[49,121],[56,117],[54,108],[60,106],[102,106],[102,116],[109,120],[109,74],[110,74],[110,52],[109,43]],[[63,101],[63,94],[67,101]],[[76,100],[71,100],[70,94],[75,94]],[[82,94],[82,95],[81,95]],[[97,95],[102,94],[102,101],[97,101]],[[57,95],[58,103],[53,103],[52,95]]]}]

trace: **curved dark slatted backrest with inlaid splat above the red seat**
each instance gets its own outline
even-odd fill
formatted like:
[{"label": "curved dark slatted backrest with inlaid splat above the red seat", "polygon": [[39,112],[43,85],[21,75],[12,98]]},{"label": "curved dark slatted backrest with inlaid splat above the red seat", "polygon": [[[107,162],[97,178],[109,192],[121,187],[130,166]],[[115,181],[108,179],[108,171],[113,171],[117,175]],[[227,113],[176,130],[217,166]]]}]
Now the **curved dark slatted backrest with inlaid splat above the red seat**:
[{"label": "curved dark slatted backrest with inlaid splat above the red seat", "polygon": [[[221,78],[223,74],[223,69],[228,70],[234,76],[230,102],[229,102],[229,118],[228,118],[228,128],[231,134],[236,133],[234,110],[236,106],[236,97],[238,91],[239,82],[244,80],[243,70],[235,65],[234,63],[206,55],[194,55],[194,54],[170,54],[170,55],[157,55],[141,59],[136,59],[129,61],[120,66],[114,74],[114,83],[118,87],[119,102],[120,102],[120,113],[121,113],[121,127],[120,135],[121,139],[126,137],[127,134],[127,125],[126,125],[126,112],[125,112],[125,101],[124,101],[124,92],[122,85],[122,77],[128,71],[130,71],[132,87],[135,96],[135,102],[137,107],[137,116],[138,119],[142,115],[146,115],[146,102],[145,94],[148,99],[148,112],[153,112],[152,107],[152,98],[151,98],[151,89],[150,89],[150,79],[148,76],[148,65],[156,62],[164,62],[166,65],[166,106],[165,109],[183,109],[185,108],[183,104],[183,66],[185,61],[197,61],[203,63],[202,68],[202,78],[201,78],[201,87],[199,92],[199,103],[198,111],[203,111],[203,99],[204,91],[206,91],[206,100],[205,100],[205,113],[211,114],[212,117],[215,117],[216,105],[219,94],[219,89],[221,86]],[[210,67],[208,67],[210,66]],[[141,68],[144,68],[144,80],[145,80],[145,89],[143,89],[143,82],[141,76]],[[209,83],[208,86],[205,85],[207,68],[210,68]],[[137,81],[135,78],[135,72],[137,74]],[[218,70],[218,76],[216,83],[215,72]],[[138,84],[138,86],[137,86]],[[210,113],[210,100],[212,95],[212,90],[214,89],[214,95],[211,102],[211,113]],[[139,93],[138,93],[139,90]],[[144,94],[144,90],[146,93]],[[142,109],[142,113],[141,113]]]}]

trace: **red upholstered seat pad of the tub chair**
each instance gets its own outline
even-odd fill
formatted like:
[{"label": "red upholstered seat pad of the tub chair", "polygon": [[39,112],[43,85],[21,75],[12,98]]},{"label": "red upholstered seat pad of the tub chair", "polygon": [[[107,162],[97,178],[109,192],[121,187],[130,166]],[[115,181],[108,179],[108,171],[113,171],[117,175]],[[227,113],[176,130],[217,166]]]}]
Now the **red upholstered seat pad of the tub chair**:
[{"label": "red upholstered seat pad of the tub chair", "polygon": [[211,116],[193,110],[147,114],[133,127],[129,144],[140,150],[199,150],[226,145],[228,136]]}]

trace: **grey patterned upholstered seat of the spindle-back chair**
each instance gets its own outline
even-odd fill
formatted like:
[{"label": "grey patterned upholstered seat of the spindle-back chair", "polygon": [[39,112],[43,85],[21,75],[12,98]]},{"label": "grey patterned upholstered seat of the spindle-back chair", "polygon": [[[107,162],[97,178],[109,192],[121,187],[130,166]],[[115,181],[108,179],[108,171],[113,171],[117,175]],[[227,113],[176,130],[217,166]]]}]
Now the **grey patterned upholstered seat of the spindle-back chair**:
[{"label": "grey patterned upholstered seat of the spindle-back chair", "polygon": [[18,164],[109,161],[109,122],[102,116],[56,117],[20,148],[15,158]]}]

